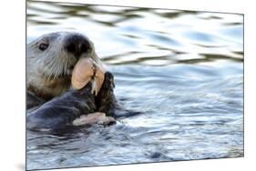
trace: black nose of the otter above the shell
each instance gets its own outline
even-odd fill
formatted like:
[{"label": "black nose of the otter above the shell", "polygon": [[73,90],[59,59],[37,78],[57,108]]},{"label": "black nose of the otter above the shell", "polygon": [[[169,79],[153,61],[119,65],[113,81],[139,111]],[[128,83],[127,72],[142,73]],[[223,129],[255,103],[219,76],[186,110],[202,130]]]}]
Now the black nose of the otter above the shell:
[{"label": "black nose of the otter above the shell", "polygon": [[90,48],[87,37],[83,35],[69,35],[67,37],[65,49],[77,58],[82,54],[87,53]]}]

